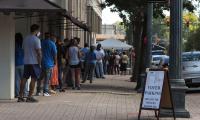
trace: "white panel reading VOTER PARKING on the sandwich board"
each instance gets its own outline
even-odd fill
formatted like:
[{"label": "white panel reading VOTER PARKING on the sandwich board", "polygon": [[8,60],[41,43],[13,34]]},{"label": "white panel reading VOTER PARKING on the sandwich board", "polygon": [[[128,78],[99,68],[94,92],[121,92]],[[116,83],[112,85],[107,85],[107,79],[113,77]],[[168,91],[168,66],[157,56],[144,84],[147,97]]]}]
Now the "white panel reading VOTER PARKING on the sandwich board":
[{"label": "white panel reading VOTER PARKING on the sandwich board", "polygon": [[149,71],[147,73],[142,108],[159,109],[163,82],[164,71]]}]

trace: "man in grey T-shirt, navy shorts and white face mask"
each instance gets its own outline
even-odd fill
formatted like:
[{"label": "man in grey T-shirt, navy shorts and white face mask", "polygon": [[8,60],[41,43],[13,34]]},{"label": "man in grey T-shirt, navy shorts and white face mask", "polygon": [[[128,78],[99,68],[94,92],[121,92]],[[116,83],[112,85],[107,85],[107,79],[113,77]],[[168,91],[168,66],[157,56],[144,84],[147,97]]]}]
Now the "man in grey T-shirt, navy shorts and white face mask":
[{"label": "man in grey T-shirt, navy shorts and white face mask", "polygon": [[40,72],[41,72],[41,59],[42,59],[42,52],[41,52],[41,42],[38,38],[40,36],[40,27],[37,24],[33,24],[30,28],[31,34],[28,35],[24,42],[24,74],[23,79],[21,80],[20,84],[20,93],[18,97],[18,102],[24,102],[24,88],[26,85],[27,80],[31,77],[30,82],[30,90],[29,95],[26,99],[26,102],[38,102],[37,99],[32,97],[35,82],[39,79]]}]

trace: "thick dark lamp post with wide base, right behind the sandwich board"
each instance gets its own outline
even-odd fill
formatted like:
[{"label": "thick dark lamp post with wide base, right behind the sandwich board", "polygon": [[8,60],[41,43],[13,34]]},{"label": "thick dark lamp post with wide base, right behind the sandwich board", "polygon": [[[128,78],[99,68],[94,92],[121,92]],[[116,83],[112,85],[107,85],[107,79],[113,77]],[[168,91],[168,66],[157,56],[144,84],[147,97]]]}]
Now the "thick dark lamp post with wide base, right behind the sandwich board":
[{"label": "thick dark lamp post with wide base, right behind the sandwich board", "polygon": [[[182,0],[170,0],[170,51],[169,77],[172,87],[173,103],[176,117],[189,118],[185,109],[186,86],[182,79]],[[171,114],[170,114],[171,113]],[[161,111],[162,116],[172,115],[171,111]]]}]

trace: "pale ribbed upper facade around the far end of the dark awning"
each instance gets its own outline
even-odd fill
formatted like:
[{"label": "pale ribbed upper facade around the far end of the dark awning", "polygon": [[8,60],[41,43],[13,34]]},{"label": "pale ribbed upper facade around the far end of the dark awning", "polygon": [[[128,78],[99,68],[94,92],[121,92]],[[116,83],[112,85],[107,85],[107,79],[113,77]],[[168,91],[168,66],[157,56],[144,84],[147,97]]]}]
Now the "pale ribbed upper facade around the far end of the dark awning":
[{"label": "pale ribbed upper facade around the far end of the dark awning", "polygon": [[[101,31],[102,24],[102,0],[51,0],[54,3],[66,9],[78,21],[86,24],[89,31],[81,29],[69,20],[63,22],[62,38],[71,39],[79,37],[81,39],[80,46],[84,43],[96,43],[96,34]],[[58,30],[57,30],[58,31]]]}]

